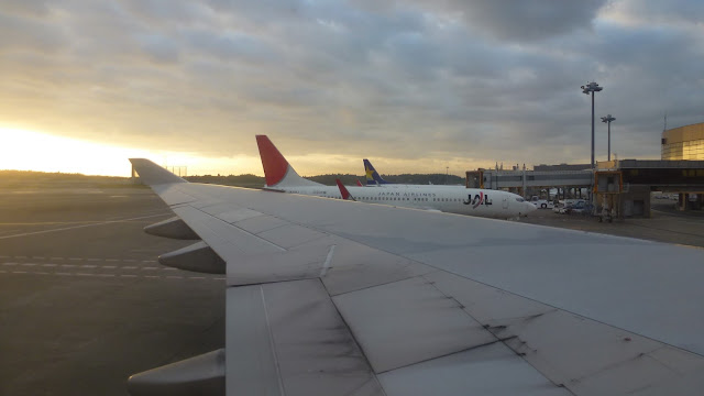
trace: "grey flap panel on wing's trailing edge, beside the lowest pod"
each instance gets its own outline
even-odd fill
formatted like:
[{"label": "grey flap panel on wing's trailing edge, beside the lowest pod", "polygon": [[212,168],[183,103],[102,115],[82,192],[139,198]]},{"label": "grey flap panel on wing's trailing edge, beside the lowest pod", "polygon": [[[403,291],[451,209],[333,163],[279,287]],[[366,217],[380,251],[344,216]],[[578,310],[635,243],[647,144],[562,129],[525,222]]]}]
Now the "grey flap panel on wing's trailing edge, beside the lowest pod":
[{"label": "grey flap panel on wing's trailing edge, beside the lowest pod", "polygon": [[227,294],[228,395],[383,395],[320,280]]}]

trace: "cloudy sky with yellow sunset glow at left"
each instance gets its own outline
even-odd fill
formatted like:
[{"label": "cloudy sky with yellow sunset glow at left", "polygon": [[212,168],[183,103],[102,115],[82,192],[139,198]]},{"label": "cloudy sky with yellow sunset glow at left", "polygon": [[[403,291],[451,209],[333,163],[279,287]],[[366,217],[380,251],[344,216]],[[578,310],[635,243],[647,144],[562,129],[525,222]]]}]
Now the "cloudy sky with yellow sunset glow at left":
[{"label": "cloudy sky with yellow sunset glow at left", "polygon": [[588,163],[591,80],[613,152],[659,158],[666,112],[704,121],[702,21],[700,0],[4,0],[0,168],[262,174],[254,134],[306,175]]}]

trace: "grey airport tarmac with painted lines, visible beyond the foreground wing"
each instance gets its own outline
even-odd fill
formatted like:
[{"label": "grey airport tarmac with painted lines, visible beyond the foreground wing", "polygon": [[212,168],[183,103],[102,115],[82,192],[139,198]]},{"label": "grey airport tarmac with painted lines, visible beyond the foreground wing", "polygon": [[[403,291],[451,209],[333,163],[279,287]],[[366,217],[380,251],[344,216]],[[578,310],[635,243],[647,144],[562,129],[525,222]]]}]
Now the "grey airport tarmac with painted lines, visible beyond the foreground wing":
[{"label": "grey airport tarmac with painted lines, visible beyond the foreground wing", "polygon": [[[704,217],[668,205],[614,223],[521,221],[704,246]],[[131,374],[223,346],[224,278],[160,265],[194,241],[142,231],[172,216],[144,187],[2,191],[0,395],[124,396]]]}]

